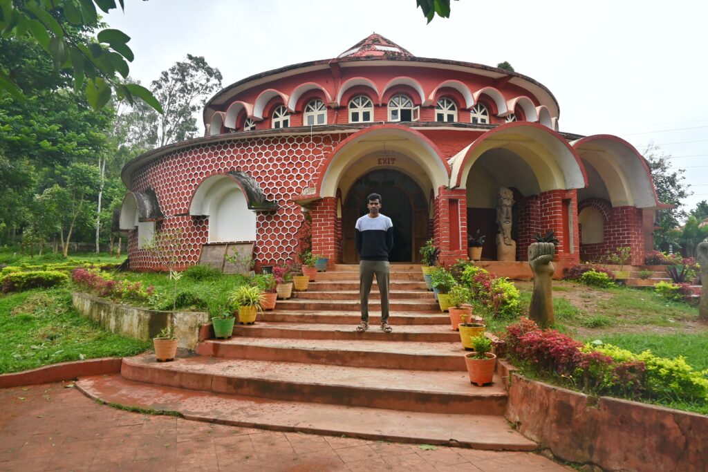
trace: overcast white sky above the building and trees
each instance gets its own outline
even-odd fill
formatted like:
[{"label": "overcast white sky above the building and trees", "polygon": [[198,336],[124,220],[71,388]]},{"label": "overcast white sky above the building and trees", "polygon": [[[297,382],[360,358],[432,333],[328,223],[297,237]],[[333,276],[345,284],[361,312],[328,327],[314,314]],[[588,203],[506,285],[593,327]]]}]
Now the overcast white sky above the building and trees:
[{"label": "overcast white sky above the building and trees", "polygon": [[[132,40],[142,84],[204,56],[224,86],[258,72],[336,57],[372,32],[418,57],[516,71],[549,88],[560,130],[653,141],[708,200],[708,2],[452,1],[426,25],[415,0],[127,0],[105,16]],[[200,123],[201,125],[201,123]]]}]

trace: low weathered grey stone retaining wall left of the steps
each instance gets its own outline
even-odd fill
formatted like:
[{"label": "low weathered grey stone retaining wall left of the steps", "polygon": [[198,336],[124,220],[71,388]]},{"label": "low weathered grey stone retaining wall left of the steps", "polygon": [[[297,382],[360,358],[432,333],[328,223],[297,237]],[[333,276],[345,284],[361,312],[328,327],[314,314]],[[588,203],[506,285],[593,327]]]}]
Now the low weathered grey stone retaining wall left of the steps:
[{"label": "low weathered grey stone retaining wall left of the steps", "polygon": [[115,304],[111,301],[75,292],[74,308],[91,318],[103,328],[130,338],[149,341],[168,323],[173,322],[178,346],[195,350],[199,343],[202,325],[210,323],[209,315],[202,312],[154,311],[135,306]]}]

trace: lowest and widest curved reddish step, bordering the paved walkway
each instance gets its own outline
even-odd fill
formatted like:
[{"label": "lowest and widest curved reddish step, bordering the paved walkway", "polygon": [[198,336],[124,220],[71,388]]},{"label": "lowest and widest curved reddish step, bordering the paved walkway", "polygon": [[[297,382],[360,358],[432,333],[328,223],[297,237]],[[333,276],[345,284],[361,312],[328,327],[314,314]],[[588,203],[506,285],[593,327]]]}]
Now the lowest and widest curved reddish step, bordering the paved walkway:
[{"label": "lowest and widest curved reddish step, bordering the paved walkway", "polygon": [[[105,384],[106,393],[101,391]],[[401,442],[408,444],[436,444],[493,451],[535,451],[537,445],[511,429],[502,416],[493,415],[452,415],[444,413],[414,413],[379,408],[348,407],[341,405],[322,405],[288,401],[269,401],[262,398],[250,398],[209,393],[195,394],[182,388],[153,387],[148,384],[123,379],[117,374],[110,376],[83,377],[76,381],[76,388],[94,401],[119,405],[128,408],[142,408],[157,413],[179,413],[187,420],[212,422],[220,425],[253,427],[263,430],[324,434],[328,436],[353,437],[375,441]],[[134,395],[120,394],[119,388]],[[166,395],[167,394],[167,395]],[[207,405],[209,413],[190,410],[190,399],[195,403]],[[205,401],[209,398],[211,403]],[[147,403],[146,399],[155,398],[157,403]],[[169,401],[167,398],[175,400]],[[215,408],[215,405],[227,405],[227,408]],[[278,408],[273,408],[278,407]],[[256,411],[259,408],[263,412]],[[274,411],[284,412],[280,420],[275,420]],[[219,412],[215,414],[214,412]],[[246,412],[247,418],[239,418]],[[219,414],[221,416],[219,416]],[[383,418],[383,427],[367,430],[367,420]],[[327,419],[333,418],[334,425]],[[362,421],[362,418],[364,421]],[[483,426],[476,423],[483,422]],[[401,425],[402,432],[394,432],[394,425]],[[457,434],[445,431],[434,434],[435,427],[455,425]],[[452,429],[452,428],[451,428]],[[500,440],[485,440],[485,433],[496,430]],[[468,437],[465,438],[464,434]]]}]

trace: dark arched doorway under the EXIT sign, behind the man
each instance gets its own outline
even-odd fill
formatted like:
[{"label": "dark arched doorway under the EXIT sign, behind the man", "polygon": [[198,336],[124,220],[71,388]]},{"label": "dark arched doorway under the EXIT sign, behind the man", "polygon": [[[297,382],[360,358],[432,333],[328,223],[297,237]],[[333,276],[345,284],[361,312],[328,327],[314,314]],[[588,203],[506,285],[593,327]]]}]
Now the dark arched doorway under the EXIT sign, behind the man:
[{"label": "dark arched doorway under the EXIT sign, behind the man", "polygon": [[428,238],[428,202],[420,185],[403,172],[380,169],[362,175],[351,186],[342,206],[342,258],[346,264],[359,258],[354,244],[356,220],[367,213],[366,197],[378,193],[382,214],[394,224],[392,263],[416,262]]}]

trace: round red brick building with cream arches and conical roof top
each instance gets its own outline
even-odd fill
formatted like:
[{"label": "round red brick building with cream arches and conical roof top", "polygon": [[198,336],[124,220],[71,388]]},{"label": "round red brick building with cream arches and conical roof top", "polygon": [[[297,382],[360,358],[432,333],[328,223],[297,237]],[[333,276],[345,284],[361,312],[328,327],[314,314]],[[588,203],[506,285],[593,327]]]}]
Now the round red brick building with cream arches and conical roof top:
[{"label": "round red brick building with cream arches and conical roof top", "polygon": [[272,265],[294,257],[305,212],[312,249],[355,263],[365,197],[392,217],[392,261],[418,260],[435,239],[447,261],[467,234],[495,260],[496,195],[513,190],[517,260],[533,235],[559,238],[564,263],[618,246],[641,263],[660,206],[646,161],[623,139],[559,132],[559,104],[539,82],[480,64],[415,57],[370,35],[333,59],[266,71],[212,97],[206,135],[137,156],[122,171],[118,224],[130,265],[154,231],[179,229],[181,265],[202,247],[255,241]]}]

